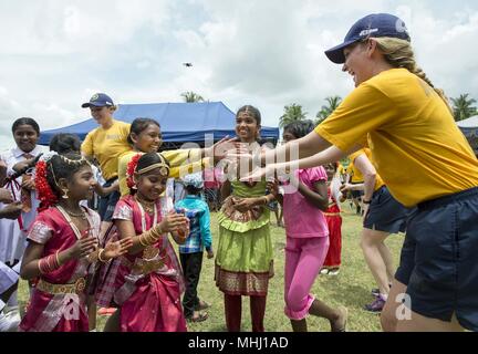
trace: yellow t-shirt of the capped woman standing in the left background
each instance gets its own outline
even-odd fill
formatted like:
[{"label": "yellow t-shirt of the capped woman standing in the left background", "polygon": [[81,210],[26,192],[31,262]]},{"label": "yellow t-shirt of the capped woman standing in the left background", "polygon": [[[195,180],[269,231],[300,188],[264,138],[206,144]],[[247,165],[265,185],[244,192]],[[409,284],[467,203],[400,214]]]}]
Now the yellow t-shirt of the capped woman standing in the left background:
[{"label": "yellow t-shirt of the capped woman standing in the left background", "polygon": [[127,142],[129,126],[128,123],[113,119],[113,125],[108,129],[97,127],[86,135],[82,144],[82,153],[98,160],[106,180],[117,176],[119,156],[131,150]]}]

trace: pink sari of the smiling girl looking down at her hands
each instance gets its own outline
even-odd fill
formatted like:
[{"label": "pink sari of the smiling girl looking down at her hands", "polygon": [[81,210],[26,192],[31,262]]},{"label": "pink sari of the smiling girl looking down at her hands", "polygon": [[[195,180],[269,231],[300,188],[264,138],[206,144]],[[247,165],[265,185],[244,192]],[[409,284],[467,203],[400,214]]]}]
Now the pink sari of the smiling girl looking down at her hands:
[{"label": "pink sari of the smiling girl looking down at her hands", "polygon": [[[168,211],[166,199],[156,205],[156,221]],[[113,216],[115,220],[133,222],[136,235],[154,226],[154,216],[142,210],[133,196],[118,201]],[[138,270],[145,260],[159,262],[162,267],[149,271]],[[123,257],[114,284],[114,301],[121,306],[122,332],[186,332],[180,295],[184,279],[176,252],[168,236],[163,235],[156,244]]]}]

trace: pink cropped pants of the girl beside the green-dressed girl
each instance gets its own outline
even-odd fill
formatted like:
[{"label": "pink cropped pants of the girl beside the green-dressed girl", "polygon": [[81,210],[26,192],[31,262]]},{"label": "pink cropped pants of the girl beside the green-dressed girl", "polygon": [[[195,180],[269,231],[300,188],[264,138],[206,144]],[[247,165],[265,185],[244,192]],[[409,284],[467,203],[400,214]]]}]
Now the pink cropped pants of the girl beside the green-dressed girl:
[{"label": "pink cropped pants of the girl beside the green-dressed girl", "polygon": [[310,290],[322,269],[329,250],[329,237],[287,238],[284,300],[285,315],[295,321],[306,317],[315,298]]}]

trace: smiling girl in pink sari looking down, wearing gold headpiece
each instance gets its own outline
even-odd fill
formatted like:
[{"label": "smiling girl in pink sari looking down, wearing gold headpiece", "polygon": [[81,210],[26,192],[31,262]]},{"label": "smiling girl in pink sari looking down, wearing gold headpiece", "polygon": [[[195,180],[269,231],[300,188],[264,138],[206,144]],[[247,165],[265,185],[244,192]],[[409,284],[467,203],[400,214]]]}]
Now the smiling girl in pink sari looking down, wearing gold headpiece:
[{"label": "smiling girl in pink sari looking down, wearing gold headpiece", "polygon": [[133,157],[127,173],[133,194],[118,201],[113,215],[119,238],[133,238],[114,282],[122,332],[186,332],[184,280],[167,233],[184,243],[189,220],[174,212],[172,200],[160,197],[168,174],[160,154]]}]

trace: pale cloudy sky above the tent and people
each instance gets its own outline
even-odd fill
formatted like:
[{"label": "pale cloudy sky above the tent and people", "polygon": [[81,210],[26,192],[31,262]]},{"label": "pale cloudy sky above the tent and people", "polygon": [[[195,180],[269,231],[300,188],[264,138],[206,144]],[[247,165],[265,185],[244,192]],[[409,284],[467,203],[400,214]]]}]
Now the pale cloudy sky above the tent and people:
[{"label": "pale cloudy sky above the tent and people", "polygon": [[195,91],[232,111],[257,105],[271,126],[291,103],[314,117],[326,96],[353,90],[323,51],[372,12],[407,22],[436,86],[478,98],[474,1],[2,1],[0,149],[12,146],[18,117],[43,129],[87,118],[80,105],[95,92],[121,104]]}]

